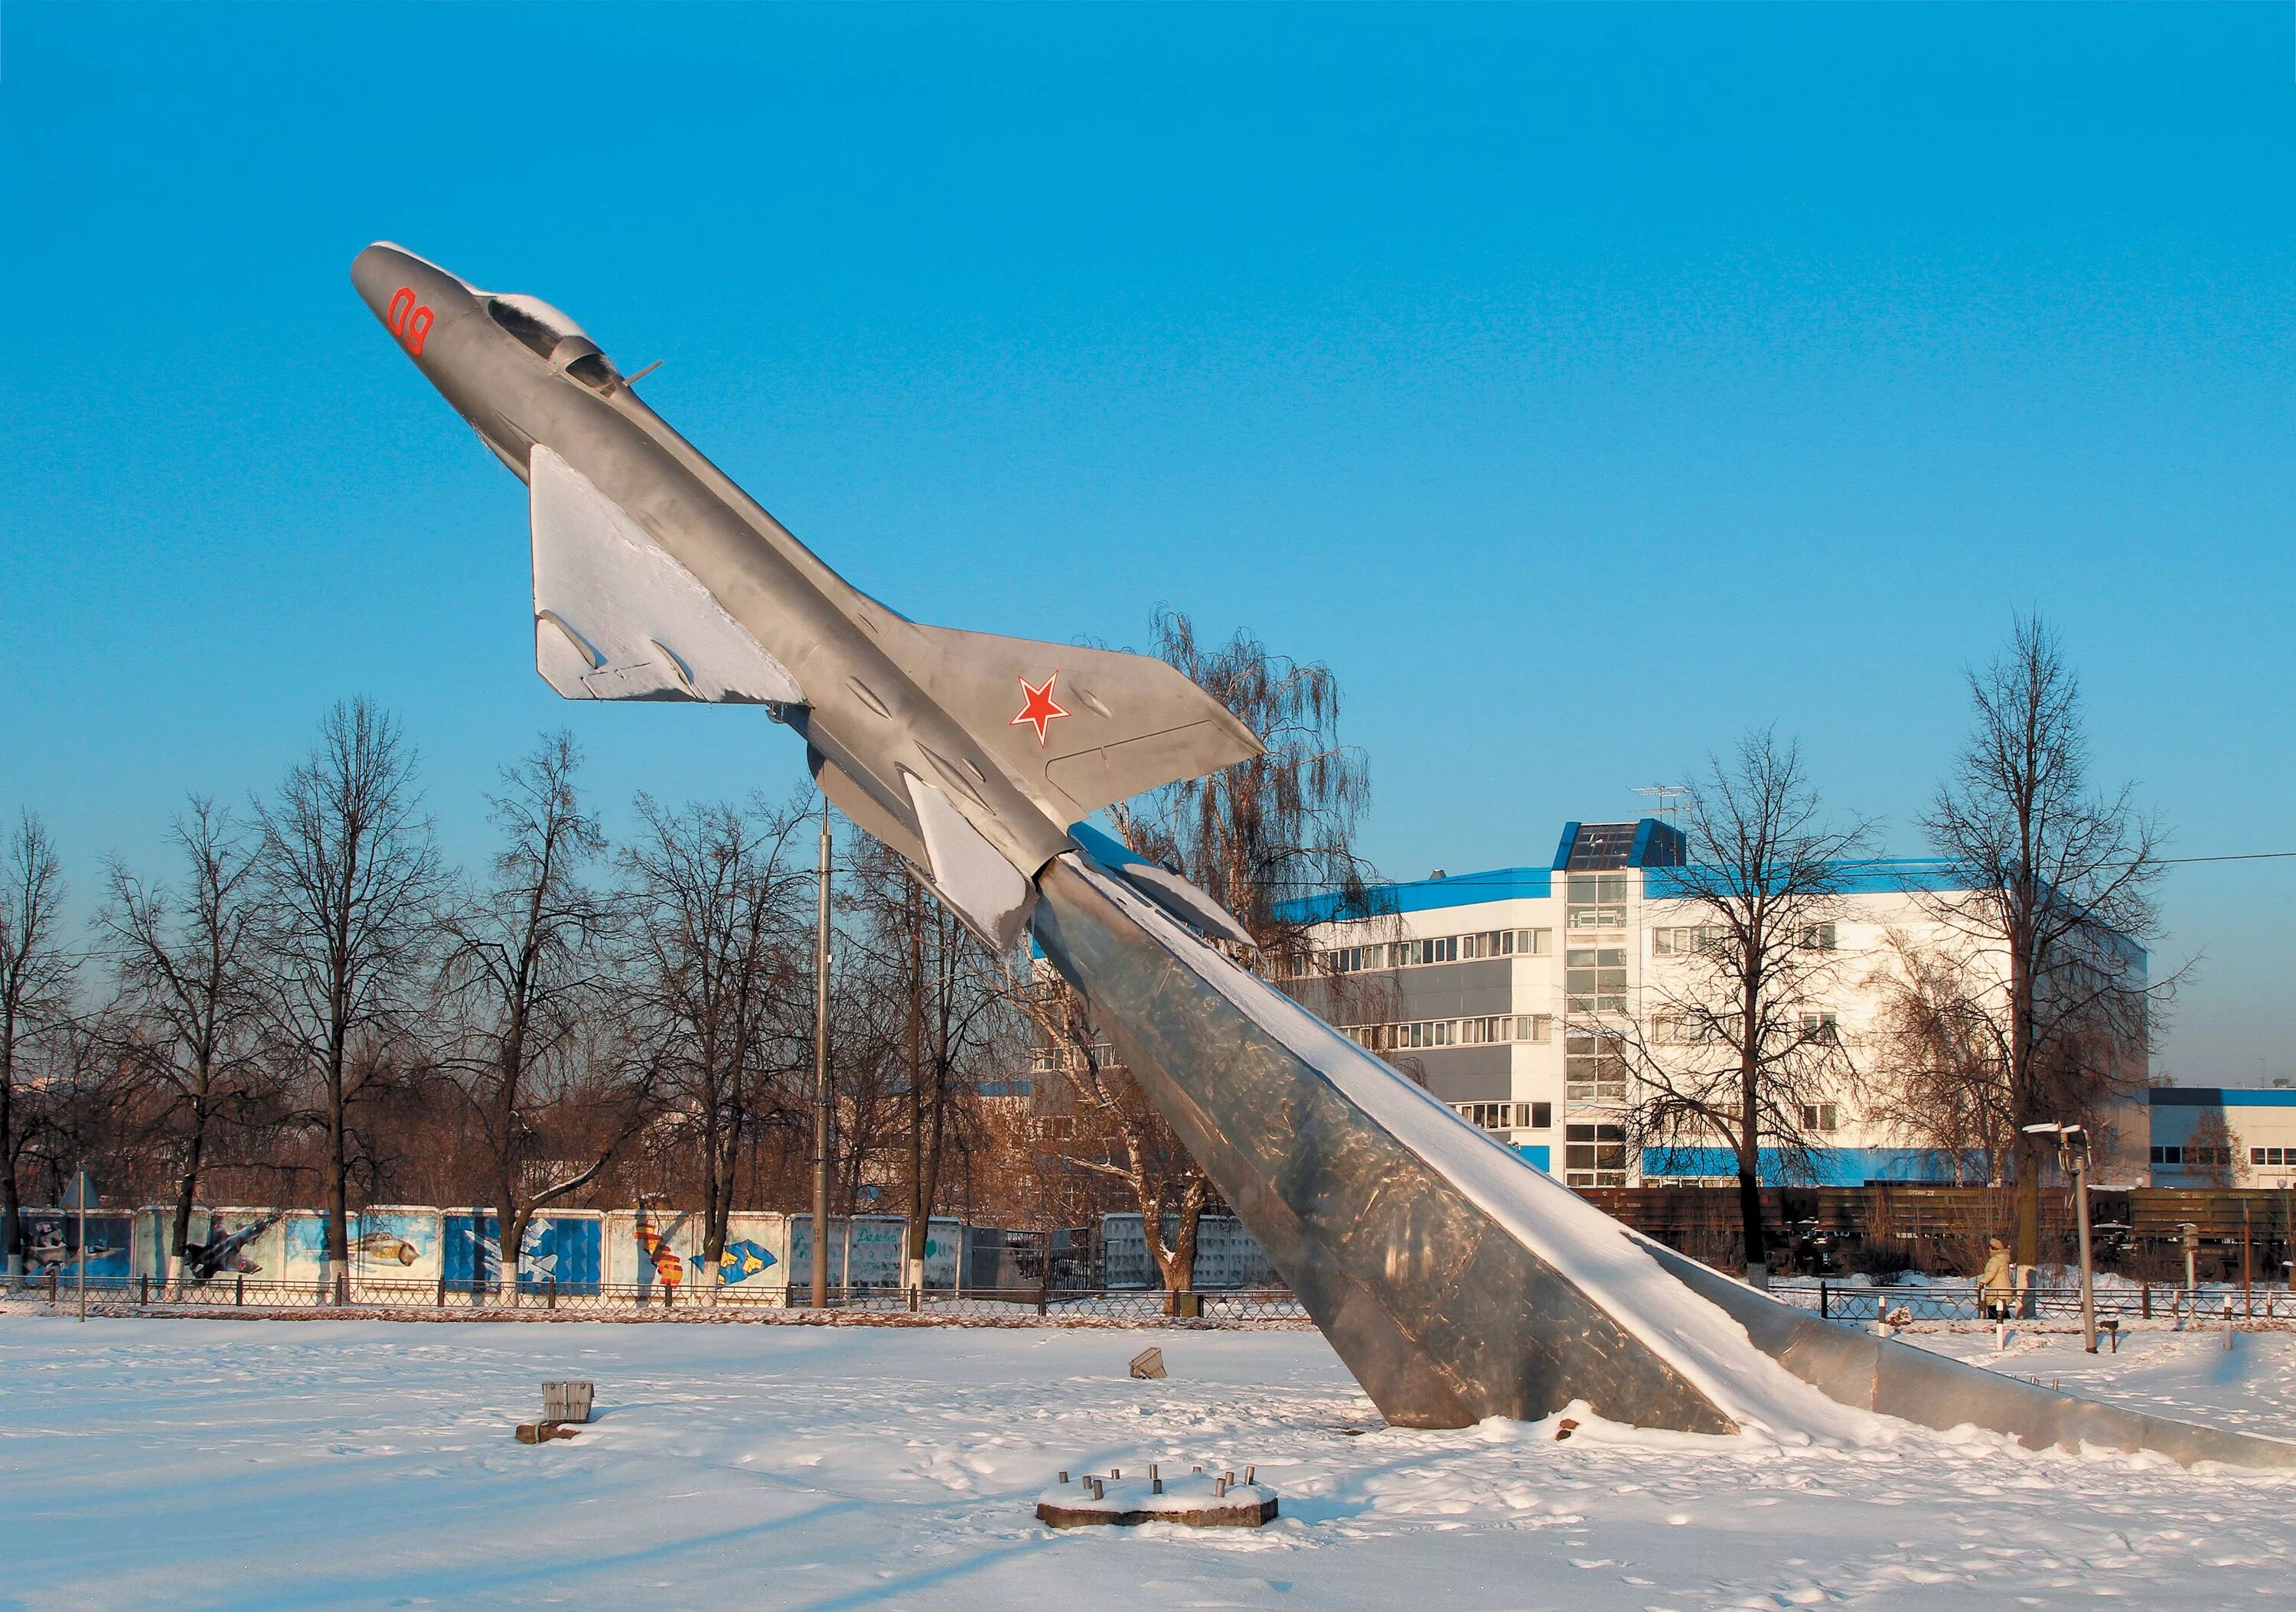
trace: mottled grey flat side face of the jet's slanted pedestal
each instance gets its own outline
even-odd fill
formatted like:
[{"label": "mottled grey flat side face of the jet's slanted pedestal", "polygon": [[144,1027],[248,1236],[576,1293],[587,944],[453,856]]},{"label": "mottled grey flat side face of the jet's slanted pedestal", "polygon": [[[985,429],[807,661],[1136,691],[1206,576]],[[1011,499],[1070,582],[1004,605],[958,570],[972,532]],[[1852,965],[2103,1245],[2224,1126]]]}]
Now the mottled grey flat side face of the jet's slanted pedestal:
[{"label": "mottled grey flat side face of the jet's slanted pedestal", "polygon": [[1035,939],[1389,1421],[1536,1421],[1584,1398],[1736,1433],[1706,1394],[1522,1247],[1329,1077],[1068,861]]}]

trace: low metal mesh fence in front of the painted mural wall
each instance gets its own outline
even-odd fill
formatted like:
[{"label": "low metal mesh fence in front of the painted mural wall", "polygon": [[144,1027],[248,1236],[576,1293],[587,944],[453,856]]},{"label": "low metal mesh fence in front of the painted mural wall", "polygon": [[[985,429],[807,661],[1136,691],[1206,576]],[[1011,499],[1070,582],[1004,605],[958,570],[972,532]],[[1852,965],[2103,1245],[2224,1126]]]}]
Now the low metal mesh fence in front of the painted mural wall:
[{"label": "low metal mesh fence in front of the painted mural wall", "polygon": [[[80,1288],[71,1277],[53,1272],[0,1297],[76,1309]],[[615,1320],[778,1320],[820,1323],[918,1320],[918,1323],[1100,1323],[1100,1325],[1258,1325],[1304,1323],[1306,1309],[1283,1288],[1233,1293],[1164,1293],[1157,1288],[829,1288],[827,1309],[810,1307],[810,1288],[693,1286],[670,1284],[608,1286],[581,1284],[560,1288],[553,1281],[521,1284],[519,1295],[455,1281],[363,1281],[354,1279],[328,1302],[310,1281],[250,1281],[216,1277],[214,1281],[165,1284],[149,1277],[87,1281],[87,1307],[101,1313],[209,1313],[255,1311],[310,1316],[393,1316],[432,1313],[452,1320],[519,1318],[546,1320],[615,1318]]]}]

